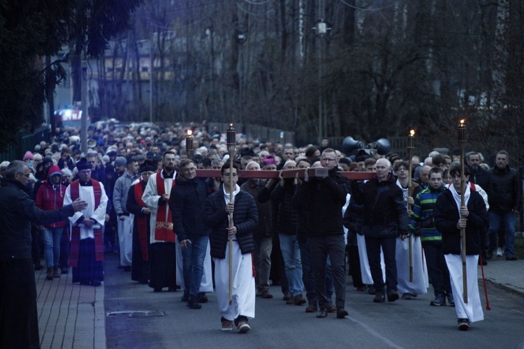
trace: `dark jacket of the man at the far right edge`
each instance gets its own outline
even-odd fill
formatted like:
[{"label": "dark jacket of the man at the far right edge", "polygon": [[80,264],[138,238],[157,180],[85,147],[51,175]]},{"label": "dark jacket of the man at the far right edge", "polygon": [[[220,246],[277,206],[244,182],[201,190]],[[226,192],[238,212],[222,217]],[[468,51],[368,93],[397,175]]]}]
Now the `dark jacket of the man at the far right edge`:
[{"label": "dark jacket of the man at the far right edge", "polygon": [[488,171],[489,180],[487,188],[490,211],[507,212],[518,210],[520,206],[520,185],[517,170],[506,166],[500,170],[495,166]]}]

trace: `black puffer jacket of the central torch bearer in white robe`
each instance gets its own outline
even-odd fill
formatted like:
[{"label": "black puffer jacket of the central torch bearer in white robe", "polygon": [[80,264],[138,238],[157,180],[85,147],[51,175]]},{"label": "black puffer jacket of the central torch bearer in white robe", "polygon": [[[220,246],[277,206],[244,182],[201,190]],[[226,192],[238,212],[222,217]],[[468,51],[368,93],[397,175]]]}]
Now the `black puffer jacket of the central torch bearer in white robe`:
[{"label": "black puffer jacket of the central torch bearer in white robe", "polygon": [[[177,184],[178,185],[178,184]],[[226,258],[226,245],[228,243],[229,215],[225,210],[224,189],[220,187],[208,196],[205,202],[203,221],[211,228],[210,245],[211,257]],[[242,254],[254,251],[253,231],[259,223],[259,214],[256,211],[255,200],[249,193],[240,191],[235,196],[235,211],[233,212],[233,225],[237,227],[235,239],[240,245]]]}]

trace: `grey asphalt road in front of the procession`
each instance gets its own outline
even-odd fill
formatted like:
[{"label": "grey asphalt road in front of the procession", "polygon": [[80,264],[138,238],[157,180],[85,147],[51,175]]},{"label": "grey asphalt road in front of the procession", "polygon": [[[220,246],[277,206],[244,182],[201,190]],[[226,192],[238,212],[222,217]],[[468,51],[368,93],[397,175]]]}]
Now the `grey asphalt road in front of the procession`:
[{"label": "grey asphalt road in front of the procession", "polygon": [[458,331],[455,309],[429,305],[431,287],[413,300],[375,304],[348,277],[346,319],[317,319],[305,306],[286,305],[272,287],[275,298],[257,298],[252,330],[239,334],[220,331],[214,294],[190,310],[180,291],[154,293],[131,281],[117,269],[117,255],[104,263],[105,311],[116,312],[106,316],[108,348],[524,348],[524,297],[495,285],[488,284],[491,310],[482,294],[485,320],[468,332]]}]

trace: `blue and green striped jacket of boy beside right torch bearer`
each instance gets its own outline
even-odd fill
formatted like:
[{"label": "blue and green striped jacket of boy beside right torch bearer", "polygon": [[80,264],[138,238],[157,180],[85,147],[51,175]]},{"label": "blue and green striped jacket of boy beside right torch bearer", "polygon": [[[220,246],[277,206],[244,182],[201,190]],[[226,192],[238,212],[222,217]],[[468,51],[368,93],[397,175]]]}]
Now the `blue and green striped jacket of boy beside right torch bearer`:
[{"label": "blue and green striped jacket of boy beside right torch bearer", "polygon": [[408,229],[412,233],[420,230],[423,244],[442,244],[442,234],[435,228],[433,209],[435,209],[437,198],[444,191],[446,191],[444,185],[438,189],[428,186],[415,197]]}]

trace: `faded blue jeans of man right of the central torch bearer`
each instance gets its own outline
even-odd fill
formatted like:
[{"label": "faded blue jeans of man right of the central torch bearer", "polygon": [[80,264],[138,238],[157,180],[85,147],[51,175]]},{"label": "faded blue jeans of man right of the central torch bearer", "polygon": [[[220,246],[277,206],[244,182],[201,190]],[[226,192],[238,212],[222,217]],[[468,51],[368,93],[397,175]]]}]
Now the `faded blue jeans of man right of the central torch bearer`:
[{"label": "faded blue jeans of man right of the central torch bearer", "polygon": [[300,248],[296,235],[279,233],[280,251],[284,258],[286,277],[289,283],[289,294],[292,297],[302,295],[304,283],[302,281],[302,262],[300,261]]}]

